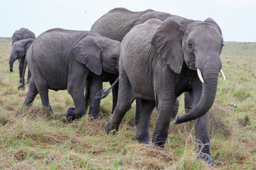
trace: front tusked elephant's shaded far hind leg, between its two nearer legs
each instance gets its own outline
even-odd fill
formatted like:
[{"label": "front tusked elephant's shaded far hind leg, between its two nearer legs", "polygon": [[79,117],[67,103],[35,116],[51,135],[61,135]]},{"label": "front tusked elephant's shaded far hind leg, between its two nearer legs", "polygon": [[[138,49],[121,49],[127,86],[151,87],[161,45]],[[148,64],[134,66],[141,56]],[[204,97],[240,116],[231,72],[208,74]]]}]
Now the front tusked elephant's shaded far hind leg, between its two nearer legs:
[{"label": "front tusked elephant's shaded far hind leg, between its two nearer legs", "polygon": [[141,99],[141,113],[139,125],[137,125],[136,139],[139,143],[149,143],[149,123],[151,113],[155,107],[155,101],[146,101]]}]

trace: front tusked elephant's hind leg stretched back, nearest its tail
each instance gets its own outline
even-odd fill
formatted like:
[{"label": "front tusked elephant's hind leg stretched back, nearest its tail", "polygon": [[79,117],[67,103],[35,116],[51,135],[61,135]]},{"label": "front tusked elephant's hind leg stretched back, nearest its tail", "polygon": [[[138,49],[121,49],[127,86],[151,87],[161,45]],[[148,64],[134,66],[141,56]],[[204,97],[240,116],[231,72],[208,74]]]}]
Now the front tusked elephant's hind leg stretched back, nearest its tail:
[{"label": "front tusked elephant's hind leg stretched back, nearest its tail", "polygon": [[122,73],[122,77],[119,77],[119,91],[118,91],[118,101],[117,107],[114,109],[110,120],[105,124],[105,131],[110,132],[110,130],[118,130],[119,124],[125,113],[129,111],[134,101],[134,92],[132,91],[132,86],[125,73]]}]

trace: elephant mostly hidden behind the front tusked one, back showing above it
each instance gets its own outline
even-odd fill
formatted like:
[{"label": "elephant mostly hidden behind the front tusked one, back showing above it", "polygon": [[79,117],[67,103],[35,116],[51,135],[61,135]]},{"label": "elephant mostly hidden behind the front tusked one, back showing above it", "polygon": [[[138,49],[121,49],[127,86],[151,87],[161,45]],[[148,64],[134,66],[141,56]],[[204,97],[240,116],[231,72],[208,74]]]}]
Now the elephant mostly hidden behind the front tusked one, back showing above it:
[{"label": "elephant mostly hidden behind the front tusked one, back showing above it", "polygon": [[[129,30],[138,24],[144,23],[145,21],[151,18],[158,18],[161,21],[166,20],[171,15],[169,13],[154,11],[152,9],[147,9],[146,11],[129,11],[126,8],[114,8],[111,11],[107,12],[104,16],[99,18],[92,25],[91,30],[99,33],[102,36],[110,38],[112,40],[118,40],[122,42],[123,38]],[[118,74],[105,74],[103,81],[109,81],[110,84],[114,82],[118,77]],[[112,89],[113,95],[113,106],[112,113],[114,108],[117,106],[117,94],[118,94],[118,84]],[[89,98],[90,94],[86,94]],[[85,103],[89,103],[88,99],[85,99]],[[97,100],[97,99],[96,99]],[[139,106],[140,100],[136,102],[136,118],[135,125],[139,123]],[[91,111],[91,108],[90,108]],[[178,112],[178,100],[176,100],[176,113]],[[174,116],[175,117],[175,116]]]}]

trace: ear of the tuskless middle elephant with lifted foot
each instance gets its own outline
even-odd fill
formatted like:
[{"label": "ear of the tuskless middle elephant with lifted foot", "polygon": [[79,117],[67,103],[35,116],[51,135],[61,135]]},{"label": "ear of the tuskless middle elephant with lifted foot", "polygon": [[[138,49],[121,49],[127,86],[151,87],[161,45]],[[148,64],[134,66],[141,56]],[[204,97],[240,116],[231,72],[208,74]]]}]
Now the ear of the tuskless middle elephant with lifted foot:
[{"label": "ear of the tuskless middle elephant with lifted foot", "polygon": [[85,64],[94,74],[102,74],[102,62],[100,59],[100,47],[95,42],[95,37],[88,35],[73,47],[75,59]]}]

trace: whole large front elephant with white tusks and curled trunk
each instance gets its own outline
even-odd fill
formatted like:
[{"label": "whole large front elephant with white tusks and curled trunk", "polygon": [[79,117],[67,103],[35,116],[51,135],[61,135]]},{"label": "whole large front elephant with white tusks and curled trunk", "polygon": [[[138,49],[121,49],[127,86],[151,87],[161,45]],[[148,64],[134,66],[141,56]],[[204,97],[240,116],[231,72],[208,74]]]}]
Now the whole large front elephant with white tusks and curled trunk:
[{"label": "whole large front elephant with white tusks and curled trunk", "polygon": [[[215,100],[218,72],[222,68],[222,46],[221,30],[211,18],[193,21],[171,16],[164,22],[151,19],[132,28],[122,40],[117,107],[105,130],[118,130],[132,101],[142,98],[136,138],[149,143],[149,121],[156,107],[152,142],[164,147],[176,98],[188,91],[193,110],[177,117],[176,124],[194,120],[197,149],[202,149],[200,158],[213,164],[208,111]],[[203,84],[197,68],[202,72]]]}]

